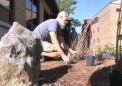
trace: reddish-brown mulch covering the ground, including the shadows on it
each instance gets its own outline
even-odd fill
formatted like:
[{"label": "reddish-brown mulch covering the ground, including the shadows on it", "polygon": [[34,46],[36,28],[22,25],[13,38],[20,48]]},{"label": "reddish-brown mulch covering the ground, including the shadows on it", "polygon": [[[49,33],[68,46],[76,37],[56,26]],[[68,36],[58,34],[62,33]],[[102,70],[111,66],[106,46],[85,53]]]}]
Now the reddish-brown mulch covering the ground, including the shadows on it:
[{"label": "reddish-brown mulch covering the ground, including the shadows on it", "polygon": [[86,59],[66,65],[63,61],[41,63],[40,86],[109,86],[108,73],[115,68],[115,58],[86,66]]}]

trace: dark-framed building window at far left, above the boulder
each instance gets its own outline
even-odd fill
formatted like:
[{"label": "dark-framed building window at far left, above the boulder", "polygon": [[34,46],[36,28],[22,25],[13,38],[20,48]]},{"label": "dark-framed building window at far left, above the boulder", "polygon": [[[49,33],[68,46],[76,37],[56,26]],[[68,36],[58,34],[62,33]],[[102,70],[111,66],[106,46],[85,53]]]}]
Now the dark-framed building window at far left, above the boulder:
[{"label": "dark-framed building window at far left, above the boulder", "polygon": [[13,0],[0,0],[0,20],[12,24]]}]

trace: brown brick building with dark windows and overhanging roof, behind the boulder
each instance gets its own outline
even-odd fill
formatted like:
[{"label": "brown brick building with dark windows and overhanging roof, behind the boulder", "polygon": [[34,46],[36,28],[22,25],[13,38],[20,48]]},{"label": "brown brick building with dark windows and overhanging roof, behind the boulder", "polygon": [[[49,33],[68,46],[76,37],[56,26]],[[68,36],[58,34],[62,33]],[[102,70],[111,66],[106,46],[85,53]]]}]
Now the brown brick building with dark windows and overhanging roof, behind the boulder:
[{"label": "brown brick building with dark windows and overhanging roof, behind the boulder", "polygon": [[[30,2],[31,9],[27,9]],[[33,7],[36,11],[33,11]],[[33,30],[41,22],[56,18],[60,12],[56,0],[0,0],[0,40],[13,22]]]}]

